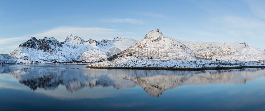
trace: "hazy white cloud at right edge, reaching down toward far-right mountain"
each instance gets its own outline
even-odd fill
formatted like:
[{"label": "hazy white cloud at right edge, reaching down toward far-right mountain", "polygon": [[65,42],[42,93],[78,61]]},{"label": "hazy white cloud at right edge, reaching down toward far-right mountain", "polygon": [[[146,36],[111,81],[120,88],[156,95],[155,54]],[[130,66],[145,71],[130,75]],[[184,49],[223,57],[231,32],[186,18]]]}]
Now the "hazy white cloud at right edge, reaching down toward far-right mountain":
[{"label": "hazy white cloud at right edge, reaching down toward far-right mountain", "polygon": [[211,20],[216,30],[223,32],[224,39],[247,41],[255,47],[264,48],[265,22],[256,17],[224,16]]}]

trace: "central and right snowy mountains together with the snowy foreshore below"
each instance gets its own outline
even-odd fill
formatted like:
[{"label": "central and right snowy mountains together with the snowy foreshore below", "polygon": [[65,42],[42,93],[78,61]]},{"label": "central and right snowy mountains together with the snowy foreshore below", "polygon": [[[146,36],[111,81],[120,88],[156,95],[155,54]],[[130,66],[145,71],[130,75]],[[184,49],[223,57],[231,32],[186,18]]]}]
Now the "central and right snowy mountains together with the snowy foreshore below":
[{"label": "central and right snowy mountains together with the snowy foreshore below", "polygon": [[[264,62],[264,60],[264,49],[243,42],[227,42],[224,44],[185,42],[164,36],[157,29],[157,31],[151,30],[148,32],[134,46],[116,54],[112,61],[96,63],[88,67],[214,68],[264,66],[264,64],[251,62]],[[231,61],[239,62],[232,63]]]}]

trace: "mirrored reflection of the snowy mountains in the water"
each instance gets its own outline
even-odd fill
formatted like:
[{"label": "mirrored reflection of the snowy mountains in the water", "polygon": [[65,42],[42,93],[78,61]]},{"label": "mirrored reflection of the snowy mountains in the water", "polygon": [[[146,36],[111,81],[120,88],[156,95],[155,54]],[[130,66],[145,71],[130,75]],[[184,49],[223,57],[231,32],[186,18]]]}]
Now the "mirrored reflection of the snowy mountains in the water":
[{"label": "mirrored reflection of the snowy mountains in the water", "polygon": [[188,84],[245,84],[264,76],[264,68],[234,69],[219,71],[165,71],[89,69],[62,66],[0,65],[0,73],[13,75],[21,84],[36,90],[54,90],[64,85],[69,92],[95,86],[132,88],[141,86],[150,96],[159,97],[163,91]]}]

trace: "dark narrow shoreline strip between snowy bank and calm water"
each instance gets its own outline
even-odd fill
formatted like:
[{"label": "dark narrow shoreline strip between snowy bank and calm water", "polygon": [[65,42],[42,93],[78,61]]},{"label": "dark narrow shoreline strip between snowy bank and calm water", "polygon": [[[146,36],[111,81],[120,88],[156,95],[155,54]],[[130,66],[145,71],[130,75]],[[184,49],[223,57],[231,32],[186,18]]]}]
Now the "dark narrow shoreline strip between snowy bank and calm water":
[{"label": "dark narrow shoreline strip between snowy bank and calm water", "polygon": [[205,68],[95,67],[95,66],[87,66],[86,68],[97,68],[97,69],[138,69],[138,70],[202,71],[202,70],[229,70],[229,69],[243,69],[243,68],[265,68],[265,66],[234,66],[234,67],[205,67]]}]

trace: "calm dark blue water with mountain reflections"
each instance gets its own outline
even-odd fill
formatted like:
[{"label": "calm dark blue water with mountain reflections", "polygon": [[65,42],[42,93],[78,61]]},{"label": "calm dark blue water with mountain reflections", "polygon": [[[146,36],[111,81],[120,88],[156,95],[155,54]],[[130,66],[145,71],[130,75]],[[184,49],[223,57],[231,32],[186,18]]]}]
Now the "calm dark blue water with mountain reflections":
[{"label": "calm dark blue water with mountain reflections", "polygon": [[0,65],[0,110],[265,110],[264,68],[221,71]]}]

